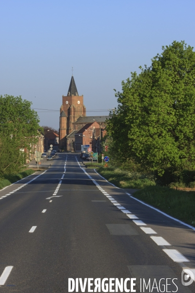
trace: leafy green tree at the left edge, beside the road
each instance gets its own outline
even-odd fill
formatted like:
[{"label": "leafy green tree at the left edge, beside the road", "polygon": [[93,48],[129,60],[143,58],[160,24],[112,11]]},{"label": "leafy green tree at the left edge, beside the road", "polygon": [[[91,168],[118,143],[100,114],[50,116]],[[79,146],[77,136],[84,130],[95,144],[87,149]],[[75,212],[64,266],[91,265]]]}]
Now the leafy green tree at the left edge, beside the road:
[{"label": "leafy green tree at the left edge, beside the road", "polygon": [[0,176],[17,173],[26,153],[37,142],[39,117],[31,102],[20,97],[0,96]]}]

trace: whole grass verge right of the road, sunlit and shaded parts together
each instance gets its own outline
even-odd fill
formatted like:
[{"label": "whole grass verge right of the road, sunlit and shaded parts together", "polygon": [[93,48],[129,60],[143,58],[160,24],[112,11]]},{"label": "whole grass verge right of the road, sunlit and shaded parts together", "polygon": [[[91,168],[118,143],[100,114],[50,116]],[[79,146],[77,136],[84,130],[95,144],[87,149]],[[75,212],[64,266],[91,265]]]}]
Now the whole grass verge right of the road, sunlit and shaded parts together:
[{"label": "whole grass verge right of the road, sunlit and shaded parts together", "polygon": [[98,172],[117,187],[139,189],[136,198],[195,227],[195,191],[161,187],[153,178],[120,168],[100,167]]}]

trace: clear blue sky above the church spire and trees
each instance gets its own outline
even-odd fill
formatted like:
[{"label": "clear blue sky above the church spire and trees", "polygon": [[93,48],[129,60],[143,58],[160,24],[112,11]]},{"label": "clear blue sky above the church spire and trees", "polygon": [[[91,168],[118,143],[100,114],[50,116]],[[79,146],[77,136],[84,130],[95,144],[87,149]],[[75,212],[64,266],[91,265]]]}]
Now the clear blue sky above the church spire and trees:
[{"label": "clear blue sky above the church spire and trees", "polygon": [[195,0],[1,0],[0,94],[59,110],[73,66],[87,110],[114,108],[113,89],[174,40],[195,46]]}]

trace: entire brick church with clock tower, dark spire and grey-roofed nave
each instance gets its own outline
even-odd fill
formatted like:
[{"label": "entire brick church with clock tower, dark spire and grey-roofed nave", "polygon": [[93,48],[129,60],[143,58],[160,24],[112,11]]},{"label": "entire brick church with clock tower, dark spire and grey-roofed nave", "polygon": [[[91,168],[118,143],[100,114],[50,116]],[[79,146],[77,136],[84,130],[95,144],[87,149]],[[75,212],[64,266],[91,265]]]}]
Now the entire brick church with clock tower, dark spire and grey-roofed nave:
[{"label": "entire brick church with clock tower, dark spire and grey-roofed nave", "polygon": [[80,152],[81,145],[89,144],[93,151],[100,153],[100,140],[106,134],[106,119],[109,119],[109,116],[86,116],[83,95],[78,95],[72,75],[67,96],[62,96],[60,107],[59,148]]}]

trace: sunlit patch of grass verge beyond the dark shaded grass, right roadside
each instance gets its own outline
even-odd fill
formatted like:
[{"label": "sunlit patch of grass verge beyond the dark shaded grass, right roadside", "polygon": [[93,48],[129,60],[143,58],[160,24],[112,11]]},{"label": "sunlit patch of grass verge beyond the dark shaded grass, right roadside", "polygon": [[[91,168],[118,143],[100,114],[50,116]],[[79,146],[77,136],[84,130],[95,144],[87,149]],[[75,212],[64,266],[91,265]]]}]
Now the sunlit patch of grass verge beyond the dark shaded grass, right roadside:
[{"label": "sunlit patch of grass verge beyond the dark shaded grass, right roadside", "polygon": [[120,188],[145,188],[146,186],[155,186],[156,183],[153,178],[146,175],[122,170],[114,167],[100,167],[99,174],[106,178],[109,182],[113,183]]}]

